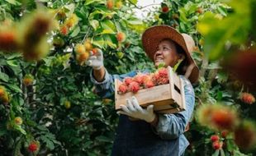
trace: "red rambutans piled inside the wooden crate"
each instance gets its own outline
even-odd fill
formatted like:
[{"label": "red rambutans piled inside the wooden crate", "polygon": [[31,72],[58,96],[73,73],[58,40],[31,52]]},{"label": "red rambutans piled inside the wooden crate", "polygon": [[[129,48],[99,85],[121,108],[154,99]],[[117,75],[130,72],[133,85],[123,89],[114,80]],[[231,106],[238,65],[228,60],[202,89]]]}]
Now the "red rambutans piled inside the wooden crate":
[{"label": "red rambutans piled inside the wooden crate", "polygon": [[137,93],[140,89],[147,89],[164,84],[168,84],[168,69],[163,67],[154,73],[139,73],[134,77],[126,77],[121,85],[118,86],[118,93]]}]

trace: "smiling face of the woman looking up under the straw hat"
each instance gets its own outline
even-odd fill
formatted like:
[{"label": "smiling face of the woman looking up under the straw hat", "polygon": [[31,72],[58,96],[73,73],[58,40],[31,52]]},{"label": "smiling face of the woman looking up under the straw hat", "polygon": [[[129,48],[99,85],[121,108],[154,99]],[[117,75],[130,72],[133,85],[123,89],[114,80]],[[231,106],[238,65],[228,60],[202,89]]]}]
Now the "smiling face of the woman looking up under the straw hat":
[{"label": "smiling face of the woman looking up under the straw hat", "polygon": [[183,54],[177,53],[175,44],[168,39],[164,39],[160,42],[159,48],[154,53],[154,66],[159,67],[159,64],[164,63],[165,66],[174,67]]}]

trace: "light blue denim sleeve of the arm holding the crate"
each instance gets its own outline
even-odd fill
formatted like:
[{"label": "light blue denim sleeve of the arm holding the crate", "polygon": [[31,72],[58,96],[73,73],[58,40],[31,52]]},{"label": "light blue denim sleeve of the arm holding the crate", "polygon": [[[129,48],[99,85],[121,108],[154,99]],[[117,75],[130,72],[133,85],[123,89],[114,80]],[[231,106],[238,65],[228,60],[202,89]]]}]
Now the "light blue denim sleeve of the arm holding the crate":
[{"label": "light blue denim sleeve of the arm holding the crate", "polygon": [[159,114],[159,122],[154,127],[154,132],[162,139],[176,139],[183,134],[189,122],[195,104],[195,94],[191,83],[182,76],[184,82],[186,110],[173,114]]}]

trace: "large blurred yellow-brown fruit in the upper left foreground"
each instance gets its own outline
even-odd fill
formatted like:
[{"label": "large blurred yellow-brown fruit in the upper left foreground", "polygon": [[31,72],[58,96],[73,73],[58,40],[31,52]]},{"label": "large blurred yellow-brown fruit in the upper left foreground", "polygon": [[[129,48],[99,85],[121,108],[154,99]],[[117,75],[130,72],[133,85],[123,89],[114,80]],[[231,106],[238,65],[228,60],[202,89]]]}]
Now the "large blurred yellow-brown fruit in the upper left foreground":
[{"label": "large blurred yellow-brown fruit in the upper left foreground", "polygon": [[53,28],[51,14],[37,9],[19,23],[0,26],[0,50],[21,52],[26,61],[38,61],[49,52],[46,33]]}]

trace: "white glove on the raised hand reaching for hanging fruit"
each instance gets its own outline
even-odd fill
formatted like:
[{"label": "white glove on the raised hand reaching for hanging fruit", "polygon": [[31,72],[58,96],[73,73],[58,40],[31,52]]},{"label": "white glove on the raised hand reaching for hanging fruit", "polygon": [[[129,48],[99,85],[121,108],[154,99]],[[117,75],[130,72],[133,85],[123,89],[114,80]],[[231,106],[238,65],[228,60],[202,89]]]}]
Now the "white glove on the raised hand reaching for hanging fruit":
[{"label": "white glove on the raised hand reaching for hanging fruit", "polygon": [[88,66],[92,67],[92,69],[99,70],[103,67],[103,53],[102,50],[97,48],[97,53],[93,55],[92,51],[90,52],[90,57],[86,63]]}]

